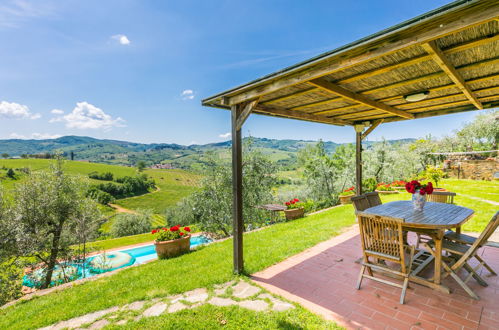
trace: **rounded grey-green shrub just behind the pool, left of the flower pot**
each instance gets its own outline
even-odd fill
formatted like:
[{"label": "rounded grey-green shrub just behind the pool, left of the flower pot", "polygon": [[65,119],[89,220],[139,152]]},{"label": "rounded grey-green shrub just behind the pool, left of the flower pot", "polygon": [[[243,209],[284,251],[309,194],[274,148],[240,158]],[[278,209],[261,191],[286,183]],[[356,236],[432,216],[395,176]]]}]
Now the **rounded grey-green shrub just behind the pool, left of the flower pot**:
[{"label": "rounded grey-green shrub just behind the pool, left of the flower pot", "polygon": [[151,230],[151,216],[151,210],[118,214],[111,226],[111,235],[122,237],[146,233]]}]

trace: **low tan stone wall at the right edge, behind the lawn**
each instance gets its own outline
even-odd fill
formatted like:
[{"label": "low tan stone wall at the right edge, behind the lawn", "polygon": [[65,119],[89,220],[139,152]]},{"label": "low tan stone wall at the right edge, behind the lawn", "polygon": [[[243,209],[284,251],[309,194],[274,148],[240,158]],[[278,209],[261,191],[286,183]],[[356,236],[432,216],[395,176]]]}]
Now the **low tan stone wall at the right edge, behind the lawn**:
[{"label": "low tan stone wall at the right edge, behind the lawn", "polygon": [[450,178],[493,180],[494,173],[499,172],[498,158],[487,160],[452,160],[446,164],[445,170]]}]

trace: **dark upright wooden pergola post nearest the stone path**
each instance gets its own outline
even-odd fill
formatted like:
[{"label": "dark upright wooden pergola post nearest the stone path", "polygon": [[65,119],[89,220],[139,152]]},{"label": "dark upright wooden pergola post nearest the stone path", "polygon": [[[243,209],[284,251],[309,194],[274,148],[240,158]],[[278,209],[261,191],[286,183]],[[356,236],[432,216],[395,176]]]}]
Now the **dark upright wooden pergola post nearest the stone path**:
[{"label": "dark upright wooden pergola post nearest the stone path", "polygon": [[240,105],[232,106],[232,237],[234,273],[244,271],[243,262],[243,160],[241,128],[237,122],[242,113]]}]

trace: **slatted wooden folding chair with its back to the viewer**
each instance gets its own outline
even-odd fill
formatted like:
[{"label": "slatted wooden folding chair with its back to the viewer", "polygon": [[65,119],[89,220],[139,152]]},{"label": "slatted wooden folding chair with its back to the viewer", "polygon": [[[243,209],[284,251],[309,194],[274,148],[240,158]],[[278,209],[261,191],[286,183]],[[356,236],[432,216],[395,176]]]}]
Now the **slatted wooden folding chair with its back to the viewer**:
[{"label": "slatted wooden folding chair with its back to the viewer", "polygon": [[[404,219],[358,214],[358,220],[363,261],[361,263],[362,268],[357,282],[357,289],[360,289],[363,278],[392,285],[402,289],[400,303],[403,304],[407,286],[409,285],[409,275],[414,257],[414,246],[410,246],[410,257],[408,262],[406,262],[405,249],[407,246],[404,245],[402,233]],[[374,264],[369,260],[371,257],[398,264],[400,270],[394,270],[386,263]],[[366,269],[368,274],[365,274]],[[404,282],[403,284],[399,284],[374,277],[373,269],[400,276],[404,279]]]}]

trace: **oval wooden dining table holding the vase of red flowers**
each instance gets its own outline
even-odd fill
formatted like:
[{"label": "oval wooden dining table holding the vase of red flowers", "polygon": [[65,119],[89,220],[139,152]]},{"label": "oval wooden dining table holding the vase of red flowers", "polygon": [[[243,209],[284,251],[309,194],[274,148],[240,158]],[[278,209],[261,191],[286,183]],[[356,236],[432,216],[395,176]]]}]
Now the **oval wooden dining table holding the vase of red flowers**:
[{"label": "oval wooden dining table holding the vase of red flowers", "polygon": [[[461,226],[468,221],[475,212],[472,209],[446,203],[426,202],[423,210],[414,210],[412,201],[394,201],[370,207],[364,211],[357,212],[358,215],[378,215],[404,219],[402,228],[406,231],[424,233],[430,236],[434,244],[434,255],[425,250],[420,250],[415,259],[422,257],[422,261],[409,277],[411,281],[422,284],[433,289],[450,293],[449,288],[442,285],[442,241],[446,230],[455,228],[461,230]],[[419,273],[435,260],[433,278],[428,280],[419,276]]]}]

